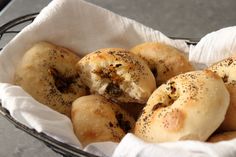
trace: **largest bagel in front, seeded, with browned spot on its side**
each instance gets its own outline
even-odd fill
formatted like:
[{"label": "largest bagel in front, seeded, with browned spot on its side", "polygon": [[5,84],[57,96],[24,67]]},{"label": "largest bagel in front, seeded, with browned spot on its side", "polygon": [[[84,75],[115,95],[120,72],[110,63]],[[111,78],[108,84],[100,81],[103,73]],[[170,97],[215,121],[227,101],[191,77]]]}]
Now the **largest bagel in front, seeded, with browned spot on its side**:
[{"label": "largest bagel in front, seeded, with browned spot on its side", "polygon": [[205,141],[224,120],[228,105],[229,93],[215,73],[180,74],[152,93],[134,134],[149,142]]}]

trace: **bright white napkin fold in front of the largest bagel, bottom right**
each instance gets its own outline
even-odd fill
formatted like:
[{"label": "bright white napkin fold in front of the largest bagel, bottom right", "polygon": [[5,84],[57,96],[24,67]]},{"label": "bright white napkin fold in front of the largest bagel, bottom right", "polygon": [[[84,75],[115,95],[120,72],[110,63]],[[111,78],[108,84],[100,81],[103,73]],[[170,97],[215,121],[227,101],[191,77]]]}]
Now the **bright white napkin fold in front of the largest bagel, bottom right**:
[{"label": "bright white napkin fold in front of the largest bagel, bottom right", "polygon": [[127,134],[117,146],[113,157],[235,157],[235,145],[236,139],[216,144],[198,141],[151,144],[133,134]]}]

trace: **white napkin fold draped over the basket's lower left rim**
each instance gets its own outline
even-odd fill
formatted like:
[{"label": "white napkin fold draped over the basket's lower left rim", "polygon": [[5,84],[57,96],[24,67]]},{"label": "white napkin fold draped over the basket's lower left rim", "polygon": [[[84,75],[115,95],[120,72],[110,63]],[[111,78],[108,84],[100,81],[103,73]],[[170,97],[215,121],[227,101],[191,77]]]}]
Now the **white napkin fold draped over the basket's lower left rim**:
[{"label": "white napkin fold draped over the basket's lower left rim", "polygon": [[56,140],[81,147],[69,118],[40,104],[19,86],[0,83],[0,99],[2,106],[22,124],[44,132]]}]

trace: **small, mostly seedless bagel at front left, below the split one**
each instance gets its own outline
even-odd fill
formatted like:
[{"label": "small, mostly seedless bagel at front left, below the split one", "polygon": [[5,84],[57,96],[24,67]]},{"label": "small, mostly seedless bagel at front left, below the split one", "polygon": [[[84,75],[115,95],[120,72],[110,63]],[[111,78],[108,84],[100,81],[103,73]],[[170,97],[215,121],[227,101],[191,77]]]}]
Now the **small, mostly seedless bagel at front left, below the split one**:
[{"label": "small, mostly seedless bagel at front left, below the split one", "polygon": [[93,142],[119,142],[135,123],[117,104],[99,95],[76,99],[72,104],[71,119],[83,146]]}]

